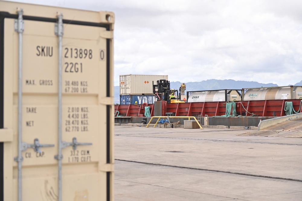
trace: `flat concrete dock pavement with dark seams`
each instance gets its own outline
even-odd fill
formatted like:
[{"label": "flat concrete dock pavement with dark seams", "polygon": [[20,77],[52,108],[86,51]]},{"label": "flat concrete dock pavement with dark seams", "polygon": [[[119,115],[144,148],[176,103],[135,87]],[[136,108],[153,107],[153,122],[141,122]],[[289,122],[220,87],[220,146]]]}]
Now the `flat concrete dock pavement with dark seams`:
[{"label": "flat concrete dock pavement with dark seams", "polygon": [[115,201],[301,201],[302,138],[114,127]]}]

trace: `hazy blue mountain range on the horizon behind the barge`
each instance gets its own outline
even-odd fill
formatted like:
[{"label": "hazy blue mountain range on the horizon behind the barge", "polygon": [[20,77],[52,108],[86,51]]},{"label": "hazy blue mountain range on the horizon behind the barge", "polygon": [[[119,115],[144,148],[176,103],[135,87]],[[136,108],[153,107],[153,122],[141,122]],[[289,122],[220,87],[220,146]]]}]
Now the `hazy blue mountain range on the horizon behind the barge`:
[{"label": "hazy blue mountain range on the horizon behind the barge", "polygon": [[[170,82],[171,89],[179,89],[182,83]],[[256,88],[256,87],[272,87],[278,86],[273,83],[258,83],[249,81],[236,81],[233,79],[208,79],[201,82],[188,82],[186,84],[186,91],[204,91],[204,90],[217,90],[217,89],[242,89],[242,88]],[[294,86],[302,86],[302,80]],[[114,104],[120,103],[120,86],[114,86]]]}]

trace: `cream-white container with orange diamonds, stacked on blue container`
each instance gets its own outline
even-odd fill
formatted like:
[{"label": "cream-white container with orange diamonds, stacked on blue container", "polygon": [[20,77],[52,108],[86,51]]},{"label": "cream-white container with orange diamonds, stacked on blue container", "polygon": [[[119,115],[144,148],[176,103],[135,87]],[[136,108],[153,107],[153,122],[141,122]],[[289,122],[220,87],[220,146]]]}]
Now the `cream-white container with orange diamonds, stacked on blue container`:
[{"label": "cream-white container with orange diamonds, stacked on blue container", "polygon": [[157,80],[168,80],[168,75],[120,75],[120,95],[139,95],[153,93]]}]

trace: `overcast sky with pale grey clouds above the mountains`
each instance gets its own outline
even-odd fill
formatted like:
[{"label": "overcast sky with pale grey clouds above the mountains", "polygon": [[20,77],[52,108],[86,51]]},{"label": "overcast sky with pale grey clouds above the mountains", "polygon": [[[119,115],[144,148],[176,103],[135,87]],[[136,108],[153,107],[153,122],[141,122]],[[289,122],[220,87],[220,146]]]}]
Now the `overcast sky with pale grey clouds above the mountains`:
[{"label": "overcast sky with pale grey clouds above the mountains", "polygon": [[302,80],[301,0],[18,0],[113,11],[114,86],[119,75],[169,81]]}]

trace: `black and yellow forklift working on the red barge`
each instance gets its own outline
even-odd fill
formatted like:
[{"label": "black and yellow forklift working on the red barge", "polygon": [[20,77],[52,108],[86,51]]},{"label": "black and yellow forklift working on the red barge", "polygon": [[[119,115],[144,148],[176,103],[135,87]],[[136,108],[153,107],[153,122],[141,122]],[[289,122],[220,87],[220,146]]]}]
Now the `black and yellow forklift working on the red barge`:
[{"label": "black and yellow forklift working on the red barge", "polygon": [[[178,94],[177,89],[170,89],[170,81],[161,79],[157,80],[156,84],[153,84],[153,93],[156,94],[157,101],[167,101],[168,103],[184,103],[181,99],[181,95]],[[179,88],[180,91],[180,88]],[[170,95],[173,93],[174,99],[170,99]],[[177,96],[175,96],[177,93]],[[177,97],[177,98],[176,98]]]}]

